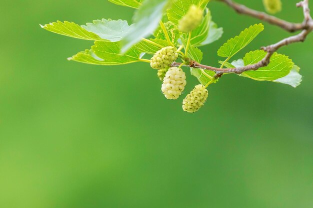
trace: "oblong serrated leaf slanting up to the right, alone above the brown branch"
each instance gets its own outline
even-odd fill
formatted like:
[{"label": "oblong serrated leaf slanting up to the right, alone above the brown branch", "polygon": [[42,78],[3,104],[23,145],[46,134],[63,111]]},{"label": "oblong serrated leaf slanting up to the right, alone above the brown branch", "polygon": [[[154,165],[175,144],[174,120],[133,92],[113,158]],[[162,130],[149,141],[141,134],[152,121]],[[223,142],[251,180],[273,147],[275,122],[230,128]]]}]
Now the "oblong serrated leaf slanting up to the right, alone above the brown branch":
[{"label": "oblong serrated leaf slanting up to the right, alone above the brown branch", "polygon": [[261,23],[249,26],[249,28],[244,29],[238,36],[227,40],[218,49],[217,54],[221,57],[232,57],[249,44],[263,29],[264,26]]}]

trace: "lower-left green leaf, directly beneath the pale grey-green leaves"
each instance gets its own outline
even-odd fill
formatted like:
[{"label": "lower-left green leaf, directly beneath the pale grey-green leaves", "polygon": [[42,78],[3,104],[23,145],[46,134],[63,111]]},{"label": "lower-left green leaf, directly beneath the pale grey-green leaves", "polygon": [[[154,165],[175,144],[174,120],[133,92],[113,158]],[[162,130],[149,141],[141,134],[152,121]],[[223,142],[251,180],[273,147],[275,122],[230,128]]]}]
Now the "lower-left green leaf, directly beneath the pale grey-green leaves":
[{"label": "lower-left green leaf, directly beneath the pale grey-green leaves", "polygon": [[91,50],[79,52],[68,60],[97,65],[121,65],[140,61],[140,53],[132,47],[121,54],[119,42],[95,41]]}]

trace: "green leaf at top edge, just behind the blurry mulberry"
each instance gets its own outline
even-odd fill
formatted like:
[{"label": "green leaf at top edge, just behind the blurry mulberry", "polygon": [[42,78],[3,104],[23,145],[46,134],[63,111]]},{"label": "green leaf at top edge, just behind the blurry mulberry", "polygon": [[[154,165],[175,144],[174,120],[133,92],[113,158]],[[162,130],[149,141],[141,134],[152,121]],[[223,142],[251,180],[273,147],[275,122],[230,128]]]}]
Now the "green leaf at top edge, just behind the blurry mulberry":
[{"label": "green leaf at top edge, just behind the blurry mulberry", "polygon": [[172,0],[171,8],[167,9],[168,20],[178,24],[178,21],[187,13],[191,5],[205,8],[209,0]]}]

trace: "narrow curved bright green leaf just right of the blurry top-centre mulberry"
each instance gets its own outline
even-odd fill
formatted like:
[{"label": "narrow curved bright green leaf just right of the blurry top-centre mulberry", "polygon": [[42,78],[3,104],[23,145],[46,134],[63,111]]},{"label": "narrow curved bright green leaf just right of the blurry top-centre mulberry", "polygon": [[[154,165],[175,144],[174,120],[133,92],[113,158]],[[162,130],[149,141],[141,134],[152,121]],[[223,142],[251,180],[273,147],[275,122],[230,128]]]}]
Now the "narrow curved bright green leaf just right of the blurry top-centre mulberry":
[{"label": "narrow curved bright green leaf just right of the blurry top-centre mulberry", "polygon": [[190,43],[192,45],[201,45],[201,43],[207,38],[210,21],[211,12],[208,10],[208,8],[205,8],[205,16],[202,20],[202,23],[191,32]]}]

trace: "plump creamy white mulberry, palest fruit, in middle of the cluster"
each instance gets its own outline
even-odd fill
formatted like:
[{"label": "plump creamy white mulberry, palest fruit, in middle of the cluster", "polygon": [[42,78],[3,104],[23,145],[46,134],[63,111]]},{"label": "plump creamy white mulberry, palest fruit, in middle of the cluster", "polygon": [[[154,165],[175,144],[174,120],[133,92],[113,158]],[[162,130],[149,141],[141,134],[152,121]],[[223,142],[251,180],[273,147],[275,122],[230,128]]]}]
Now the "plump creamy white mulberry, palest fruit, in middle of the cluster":
[{"label": "plump creamy white mulberry, palest fruit, in middle of the cluster", "polygon": [[181,95],[186,86],[186,75],[182,69],[171,67],[165,74],[162,92],[167,99],[175,100]]}]

